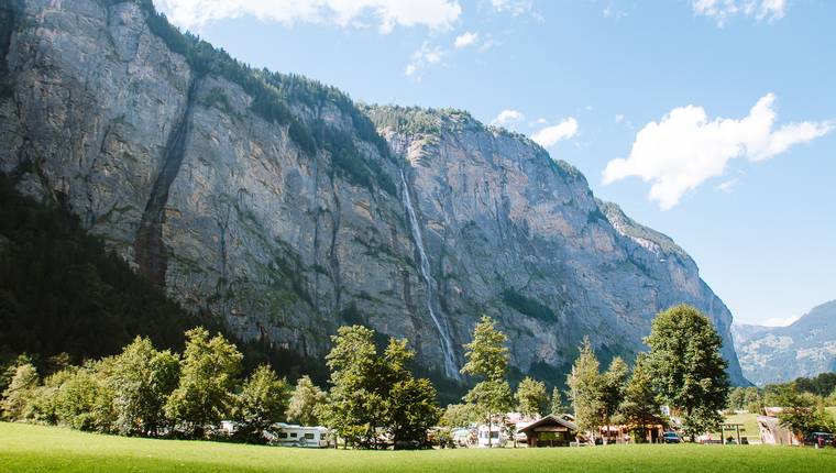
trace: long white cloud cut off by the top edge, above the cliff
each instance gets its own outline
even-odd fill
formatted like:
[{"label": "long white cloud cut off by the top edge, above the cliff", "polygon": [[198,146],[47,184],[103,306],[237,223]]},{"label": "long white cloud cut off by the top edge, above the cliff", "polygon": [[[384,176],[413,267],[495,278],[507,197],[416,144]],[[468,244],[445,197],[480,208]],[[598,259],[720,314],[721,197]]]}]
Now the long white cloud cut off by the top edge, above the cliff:
[{"label": "long white cloud cut off by the top edge, above the cliff", "polygon": [[172,22],[187,29],[244,15],[286,25],[300,22],[348,26],[372,15],[382,33],[395,26],[444,30],[462,12],[458,0],[154,0],[154,3]]}]

